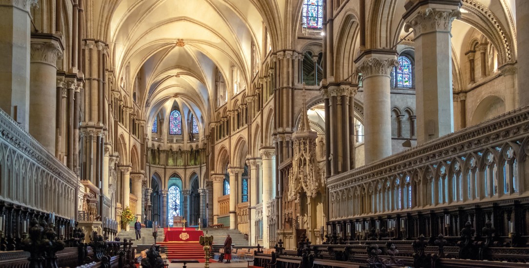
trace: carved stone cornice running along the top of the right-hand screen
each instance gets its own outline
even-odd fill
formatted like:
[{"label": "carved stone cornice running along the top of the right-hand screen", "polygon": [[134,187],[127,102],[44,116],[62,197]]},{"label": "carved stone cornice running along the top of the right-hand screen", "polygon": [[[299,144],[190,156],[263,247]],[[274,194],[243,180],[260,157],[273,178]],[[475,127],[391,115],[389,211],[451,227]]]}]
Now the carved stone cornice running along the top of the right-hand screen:
[{"label": "carved stone cornice running along the top of the right-hand screen", "polygon": [[384,158],[376,163],[362,166],[333,177],[327,181],[330,191],[358,185],[380,177],[402,173],[419,165],[437,163],[447,157],[468,154],[492,143],[529,134],[529,106],[510,111],[495,119],[452,133],[439,139],[416,146],[401,153]]}]

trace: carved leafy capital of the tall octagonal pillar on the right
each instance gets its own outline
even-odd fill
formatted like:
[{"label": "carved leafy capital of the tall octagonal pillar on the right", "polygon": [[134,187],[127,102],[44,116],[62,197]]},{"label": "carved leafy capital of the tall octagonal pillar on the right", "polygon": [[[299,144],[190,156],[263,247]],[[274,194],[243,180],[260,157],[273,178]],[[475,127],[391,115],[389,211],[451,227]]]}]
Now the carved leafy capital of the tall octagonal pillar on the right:
[{"label": "carved leafy capital of the tall octagonal pillar on the right", "polygon": [[461,18],[461,12],[458,10],[437,10],[430,7],[417,11],[407,19],[404,26],[406,32],[413,28],[414,38],[421,34],[431,32],[448,32],[452,29],[452,21]]}]

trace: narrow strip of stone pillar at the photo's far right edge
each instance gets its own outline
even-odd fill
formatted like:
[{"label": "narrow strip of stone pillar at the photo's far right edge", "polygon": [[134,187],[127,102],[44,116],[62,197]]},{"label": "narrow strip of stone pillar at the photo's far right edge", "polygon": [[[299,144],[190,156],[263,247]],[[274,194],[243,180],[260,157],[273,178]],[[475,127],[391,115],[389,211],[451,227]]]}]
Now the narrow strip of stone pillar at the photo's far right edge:
[{"label": "narrow strip of stone pillar at the photo's far right edge", "polygon": [[529,94],[527,94],[527,88],[529,88],[529,51],[520,49],[524,44],[529,43],[529,32],[525,29],[527,25],[529,25],[529,1],[516,0],[516,39],[518,43],[516,55],[518,58],[517,107],[529,105]]}]

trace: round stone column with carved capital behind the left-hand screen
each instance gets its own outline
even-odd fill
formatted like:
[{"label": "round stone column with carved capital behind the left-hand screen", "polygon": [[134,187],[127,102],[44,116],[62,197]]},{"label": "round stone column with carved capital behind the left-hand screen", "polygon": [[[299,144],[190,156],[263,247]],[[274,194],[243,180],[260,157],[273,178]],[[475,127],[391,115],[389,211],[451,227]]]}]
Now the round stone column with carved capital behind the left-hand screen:
[{"label": "round stone column with carved capital behind the left-hand screen", "polygon": [[[57,59],[62,57],[58,35],[33,33],[31,38],[30,134],[55,155]],[[62,97],[62,95],[61,95]]]}]

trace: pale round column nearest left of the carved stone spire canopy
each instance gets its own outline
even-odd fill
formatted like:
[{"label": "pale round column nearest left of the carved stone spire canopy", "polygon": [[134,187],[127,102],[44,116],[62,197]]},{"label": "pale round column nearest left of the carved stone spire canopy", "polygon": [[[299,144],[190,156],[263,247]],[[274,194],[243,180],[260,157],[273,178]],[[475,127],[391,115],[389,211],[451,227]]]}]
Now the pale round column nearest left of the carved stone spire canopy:
[{"label": "pale round column nearest left of the carved stone spire canopy", "polygon": [[269,248],[269,236],[268,233],[268,201],[275,198],[274,193],[276,192],[276,175],[275,175],[275,154],[276,151],[273,148],[262,148],[259,150],[259,154],[262,158],[262,171],[263,171],[263,247]]}]

